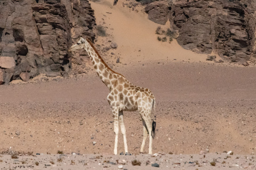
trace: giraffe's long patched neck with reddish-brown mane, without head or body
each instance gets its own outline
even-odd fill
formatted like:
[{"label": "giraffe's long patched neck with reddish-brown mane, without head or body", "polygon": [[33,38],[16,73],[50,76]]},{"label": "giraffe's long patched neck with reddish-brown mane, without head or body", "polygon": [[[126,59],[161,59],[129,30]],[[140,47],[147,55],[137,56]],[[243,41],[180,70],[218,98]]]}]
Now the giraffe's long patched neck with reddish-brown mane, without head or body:
[{"label": "giraffe's long patched neck with reddish-brown mane, without head or body", "polygon": [[91,58],[94,70],[97,72],[99,78],[106,86],[110,89],[111,81],[109,77],[113,74],[118,74],[110,69],[110,67],[103,61],[95,47],[92,45],[91,41],[85,41],[85,50]]}]

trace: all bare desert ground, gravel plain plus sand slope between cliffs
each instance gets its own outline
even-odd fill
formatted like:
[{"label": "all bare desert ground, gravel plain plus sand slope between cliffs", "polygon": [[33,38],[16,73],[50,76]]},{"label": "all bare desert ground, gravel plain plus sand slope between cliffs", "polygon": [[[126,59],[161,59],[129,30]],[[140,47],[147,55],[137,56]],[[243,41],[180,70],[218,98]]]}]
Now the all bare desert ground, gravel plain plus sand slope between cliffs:
[{"label": "all bare desert ground, gravel plain plus sand slope between cliffs", "polygon": [[[256,67],[206,61],[207,55],[185,50],[175,40],[158,42],[158,25],[140,6],[135,12],[121,2],[115,7],[111,1],[91,2],[97,24],[108,24],[108,37],[96,44],[115,41],[118,48],[102,53],[103,60],[153,91],[154,155],[147,154],[148,141],[145,153],[139,153],[138,112],[124,112],[132,155],[113,155],[108,88],[91,69],[0,86],[0,168],[157,169],[151,166],[157,163],[161,169],[255,169]],[[124,152],[121,132],[118,142],[118,153]],[[132,165],[135,159],[140,166]]]}]

